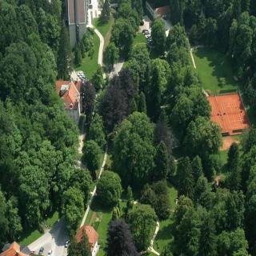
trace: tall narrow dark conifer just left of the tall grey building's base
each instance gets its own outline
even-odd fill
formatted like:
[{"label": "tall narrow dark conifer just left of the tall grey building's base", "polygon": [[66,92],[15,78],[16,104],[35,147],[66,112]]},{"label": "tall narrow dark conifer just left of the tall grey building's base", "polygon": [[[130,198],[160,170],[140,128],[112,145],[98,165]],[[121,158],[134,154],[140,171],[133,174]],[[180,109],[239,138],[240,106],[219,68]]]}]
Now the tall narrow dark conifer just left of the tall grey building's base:
[{"label": "tall narrow dark conifer just left of the tall grey building's base", "polygon": [[73,69],[73,59],[70,48],[69,35],[64,23],[62,23],[61,36],[59,38],[57,64],[58,78],[68,80],[69,74]]}]

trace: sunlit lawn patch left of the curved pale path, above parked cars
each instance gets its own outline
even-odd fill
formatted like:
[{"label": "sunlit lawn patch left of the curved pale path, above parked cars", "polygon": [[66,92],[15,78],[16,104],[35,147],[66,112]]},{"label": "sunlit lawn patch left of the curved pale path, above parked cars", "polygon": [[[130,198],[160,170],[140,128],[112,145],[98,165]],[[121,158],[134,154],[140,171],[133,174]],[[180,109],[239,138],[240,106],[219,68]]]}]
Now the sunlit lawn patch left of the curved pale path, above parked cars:
[{"label": "sunlit lawn patch left of the curved pale path, above parked cars", "polygon": [[92,78],[95,70],[98,66],[98,48],[99,48],[99,38],[97,34],[94,33],[93,35],[93,42],[94,42],[94,54],[92,57],[88,56],[86,53],[86,57],[82,59],[81,66],[77,66],[75,70],[82,70],[87,78]]}]

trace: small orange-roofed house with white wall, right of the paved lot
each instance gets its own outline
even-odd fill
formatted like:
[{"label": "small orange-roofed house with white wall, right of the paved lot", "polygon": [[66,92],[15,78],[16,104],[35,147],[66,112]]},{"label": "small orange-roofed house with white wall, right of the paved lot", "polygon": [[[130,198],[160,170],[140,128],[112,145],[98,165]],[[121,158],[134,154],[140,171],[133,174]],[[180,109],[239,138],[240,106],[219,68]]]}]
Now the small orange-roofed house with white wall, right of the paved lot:
[{"label": "small orange-roofed house with white wall, right of the paved lot", "polygon": [[86,234],[88,242],[90,244],[91,256],[96,256],[98,254],[98,233],[94,230],[93,226],[84,225],[80,227],[76,235],[77,242],[82,240],[82,234]]}]

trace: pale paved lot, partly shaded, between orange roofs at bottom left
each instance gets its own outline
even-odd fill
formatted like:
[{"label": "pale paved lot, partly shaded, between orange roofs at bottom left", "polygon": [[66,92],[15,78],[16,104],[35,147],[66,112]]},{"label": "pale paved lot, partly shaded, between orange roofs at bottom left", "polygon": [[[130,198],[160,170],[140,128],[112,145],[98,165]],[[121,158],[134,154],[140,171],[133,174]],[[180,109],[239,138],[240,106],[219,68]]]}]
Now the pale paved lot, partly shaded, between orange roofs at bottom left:
[{"label": "pale paved lot, partly shaded, between orange roofs at bottom left", "polygon": [[41,246],[44,247],[42,255],[47,255],[49,250],[53,250],[53,256],[66,256],[65,242],[67,238],[65,222],[62,218],[49,232],[43,234],[42,237],[32,242],[28,247],[36,253],[38,253]]}]

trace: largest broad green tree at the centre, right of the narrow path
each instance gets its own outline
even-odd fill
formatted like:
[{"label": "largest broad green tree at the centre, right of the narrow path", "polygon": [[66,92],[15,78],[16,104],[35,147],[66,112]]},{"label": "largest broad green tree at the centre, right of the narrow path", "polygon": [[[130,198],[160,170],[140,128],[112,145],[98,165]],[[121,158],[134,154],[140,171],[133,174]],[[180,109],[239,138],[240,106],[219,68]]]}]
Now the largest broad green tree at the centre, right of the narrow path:
[{"label": "largest broad green tree at the centre, right of the narrow path", "polygon": [[153,126],[146,114],[134,112],[114,138],[114,170],[122,182],[143,186],[154,170]]}]

